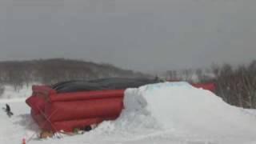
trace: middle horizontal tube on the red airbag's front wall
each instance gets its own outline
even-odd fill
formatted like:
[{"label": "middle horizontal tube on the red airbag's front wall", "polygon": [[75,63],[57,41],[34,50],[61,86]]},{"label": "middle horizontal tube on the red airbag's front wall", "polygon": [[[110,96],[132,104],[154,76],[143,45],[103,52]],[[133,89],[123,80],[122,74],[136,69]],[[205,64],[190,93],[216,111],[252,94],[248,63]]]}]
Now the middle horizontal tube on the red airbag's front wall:
[{"label": "middle horizontal tube on the red airbag's front wall", "polygon": [[115,117],[121,113],[122,98],[102,98],[82,101],[54,102],[46,107],[50,121],[70,121],[82,118]]}]

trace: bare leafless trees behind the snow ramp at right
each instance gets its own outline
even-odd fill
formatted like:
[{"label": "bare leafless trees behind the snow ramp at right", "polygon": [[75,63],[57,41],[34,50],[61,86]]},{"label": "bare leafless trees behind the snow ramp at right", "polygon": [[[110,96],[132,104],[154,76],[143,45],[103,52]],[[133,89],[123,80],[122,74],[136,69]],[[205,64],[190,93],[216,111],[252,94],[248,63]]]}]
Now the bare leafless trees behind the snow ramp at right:
[{"label": "bare leafless trees behind the snow ramp at right", "polygon": [[249,65],[216,64],[204,70],[170,70],[167,79],[187,82],[214,82],[216,94],[231,105],[256,108],[256,60]]}]

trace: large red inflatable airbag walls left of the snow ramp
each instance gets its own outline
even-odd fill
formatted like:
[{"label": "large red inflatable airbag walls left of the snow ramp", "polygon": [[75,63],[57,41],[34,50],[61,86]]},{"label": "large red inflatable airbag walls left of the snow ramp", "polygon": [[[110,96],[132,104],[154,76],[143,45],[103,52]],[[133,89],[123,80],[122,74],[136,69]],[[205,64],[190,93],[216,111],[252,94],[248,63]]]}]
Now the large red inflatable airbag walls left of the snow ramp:
[{"label": "large red inflatable airbag walls left of the snow ramp", "polygon": [[104,120],[118,118],[124,90],[98,90],[57,94],[48,86],[33,86],[26,99],[31,115],[42,130],[71,132]]}]

